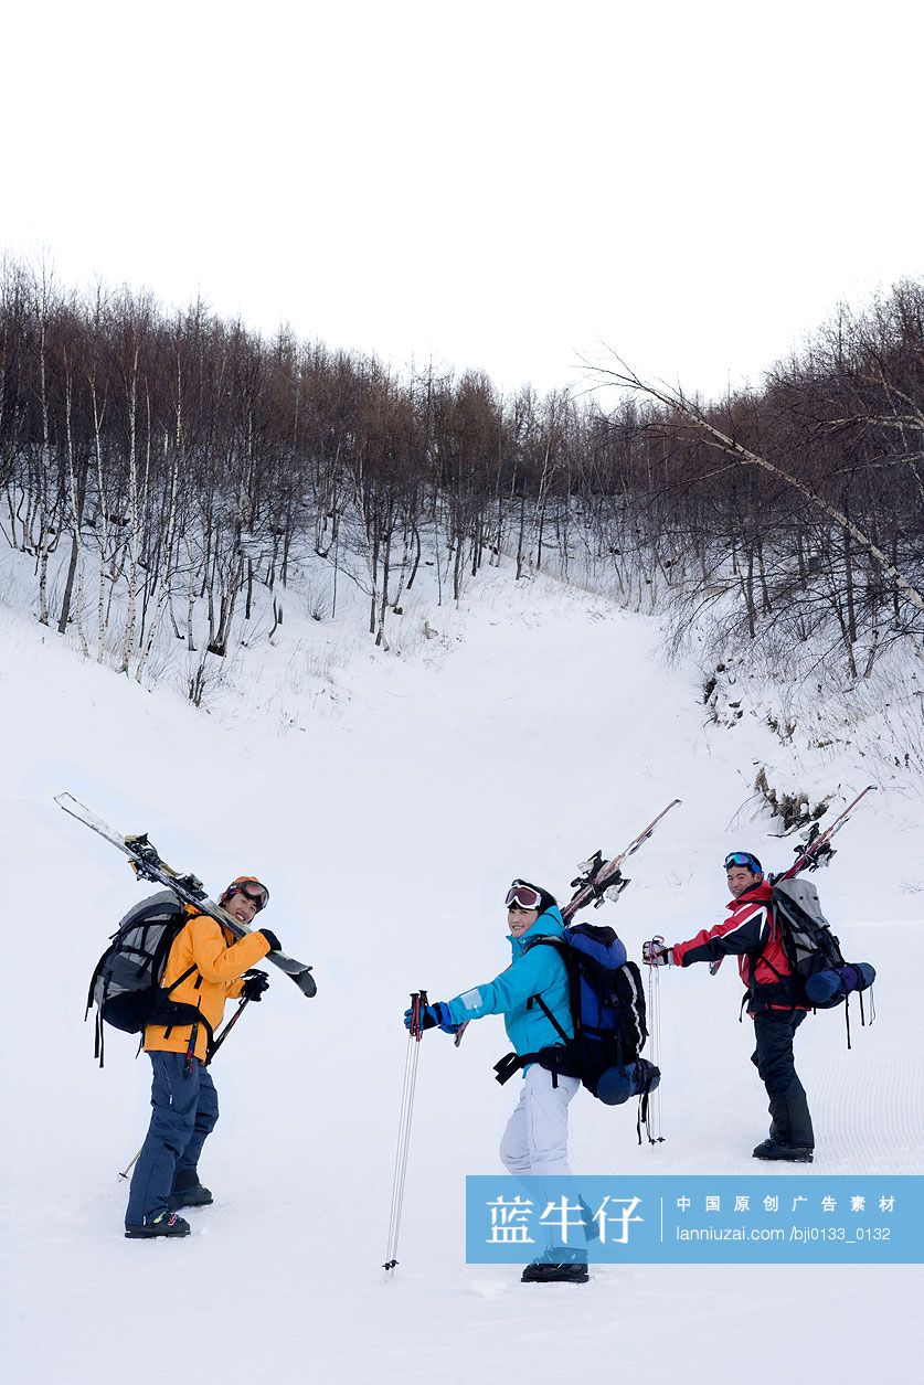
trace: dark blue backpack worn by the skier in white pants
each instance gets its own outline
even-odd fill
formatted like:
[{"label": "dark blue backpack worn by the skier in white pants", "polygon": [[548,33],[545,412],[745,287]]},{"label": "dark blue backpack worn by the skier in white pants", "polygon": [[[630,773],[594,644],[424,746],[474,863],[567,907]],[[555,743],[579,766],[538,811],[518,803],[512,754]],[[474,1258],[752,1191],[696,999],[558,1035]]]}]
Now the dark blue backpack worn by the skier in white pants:
[{"label": "dark blue backpack worn by the skier in white pants", "polygon": [[[574,1037],[568,1037],[542,996],[537,1004],[561,1036],[560,1044],[528,1053],[508,1054],[495,1064],[497,1082],[507,1082],[518,1068],[537,1062],[557,1078],[579,1078],[582,1084],[608,1107],[629,1097],[641,1098],[640,1122],[647,1120],[648,1093],[661,1082],[661,1071],[641,1057],[648,1026],[641,974],[626,961],[626,949],[612,928],[575,924],[564,938],[539,936],[529,947],[554,947],[568,970]],[[641,1138],[641,1133],[639,1133]]]}]

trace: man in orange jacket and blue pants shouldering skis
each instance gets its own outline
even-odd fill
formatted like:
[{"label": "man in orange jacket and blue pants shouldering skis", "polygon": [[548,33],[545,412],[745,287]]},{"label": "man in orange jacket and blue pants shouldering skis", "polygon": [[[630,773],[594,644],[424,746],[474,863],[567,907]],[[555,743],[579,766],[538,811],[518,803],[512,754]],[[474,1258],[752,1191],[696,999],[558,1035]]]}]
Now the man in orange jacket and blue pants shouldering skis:
[{"label": "man in orange jacket and blue pants shouldering skis", "polygon": [[[219,903],[238,924],[251,924],[269,902],[269,891],[252,875],[240,875]],[[204,1206],[212,1194],[198,1177],[198,1158],[217,1120],[217,1096],[205,1062],[224,1003],[247,996],[259,1000],[267,981],[262,972],[244,976],[270,951],[280,951],[276,933],[260,928],[240,942],[208,914],[186,906],[188,922],[173,940],[161,985],[170,1000],[195,1011],[191,1024],[148,1025],[144,1050],[151,1058],[154,1115],[134,1166],[125,1234],[129,1240],[188,1235],[177,1208]]]}]

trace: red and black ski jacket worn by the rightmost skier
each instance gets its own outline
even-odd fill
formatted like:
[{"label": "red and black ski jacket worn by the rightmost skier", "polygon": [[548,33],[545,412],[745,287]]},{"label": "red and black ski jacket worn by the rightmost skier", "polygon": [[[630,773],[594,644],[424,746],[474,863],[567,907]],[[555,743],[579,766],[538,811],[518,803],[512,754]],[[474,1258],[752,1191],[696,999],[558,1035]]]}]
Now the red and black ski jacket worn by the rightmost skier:
[{"label": "red and black ski jacket worn by the rightmost skier", "polygon": [[686,943],[673,945],[675,967],[736,956],[754,1010],[805,1010],[794,1001],[787,978],[790,964],[770,910],[770,885],[762,879],[727,904],[729,917],[704,928]]}]

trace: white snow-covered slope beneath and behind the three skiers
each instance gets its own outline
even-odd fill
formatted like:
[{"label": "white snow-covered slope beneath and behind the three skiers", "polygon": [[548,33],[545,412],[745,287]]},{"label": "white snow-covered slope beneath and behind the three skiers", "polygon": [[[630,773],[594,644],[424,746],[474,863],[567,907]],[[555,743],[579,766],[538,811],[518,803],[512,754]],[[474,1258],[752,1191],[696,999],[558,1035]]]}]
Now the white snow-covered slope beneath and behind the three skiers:
[{"label": "white snow-covered slope beneath and behind the three skiers", "polygon": [[[578,860],[682,798],[597,915],[639,956],[651,932],[686,938],[722,914],[727,849],[790,859],[756,766],[839,803],[870,778],[849,751],[797,755],[756,717],[711,724],[697,670],[664,665],[657,625],[580,590],[486,573],[461,611],[427,615],[438,633],[403,656],[371,648],[349,612],[287,619],[238,655],[209,715],[0,608],[4,1382],[916,1379],[920,1266],[603,1267],[580,1289],[465,1266],[464,1176],[497,1169],[515,1100],[492,1080],[506,1051],[492,1019],[459,1050],[424,1040],[400,1267],[384,1281],[402,1011],[413,989],[450,996],[506,964],[510,879],[567,897]],[[122,1237],[116,1174],[144,1134],[150,1069],[111,1032],[100,1072],[82,1017],[141,888],[55,807],[65,788],[213,891],[267,879],[267,925],[316,970],[312,1001],[273,974],[216,1058],[215,1205],[181,1242]],[[820,879],[846,950],[880,979],[851,1053],[839,1012],[799,1033],[819,1179],[924,1172],[918,803],[900,784],[873,795]],[[640,1148],[634,1112],[582,1093],[574,1168],[752,1173],[766,1101],[736,968],[661,981],[666,1141]]]}]

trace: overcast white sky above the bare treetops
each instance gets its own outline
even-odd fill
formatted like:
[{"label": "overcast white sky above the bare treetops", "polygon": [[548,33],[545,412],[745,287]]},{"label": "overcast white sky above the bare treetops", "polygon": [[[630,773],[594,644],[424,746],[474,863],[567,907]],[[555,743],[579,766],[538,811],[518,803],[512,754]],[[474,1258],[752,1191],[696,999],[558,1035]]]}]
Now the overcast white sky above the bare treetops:
[{"label": "overcast white sky above the bare treetops", "polygon": [[0,0],[4,251],[504,389],[924,273],[912,0]]}]

